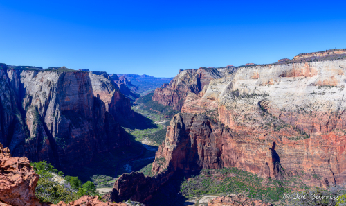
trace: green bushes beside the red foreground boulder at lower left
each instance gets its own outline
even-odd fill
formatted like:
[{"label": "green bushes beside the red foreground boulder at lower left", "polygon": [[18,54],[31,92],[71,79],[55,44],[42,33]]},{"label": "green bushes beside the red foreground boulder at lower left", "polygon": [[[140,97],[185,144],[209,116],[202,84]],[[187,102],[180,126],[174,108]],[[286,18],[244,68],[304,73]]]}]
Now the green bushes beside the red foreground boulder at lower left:
[{"label": "green bushes beside the red foreground boulder at lower left", "polygon": [[57,171],[51,164],[46,161],[31,162],[35,172],[39,175],[39,181],[35,189],[35,194],[42,202],[59,203],[64,201],[69,203],[73,200],[77,200],[81,196],[98,195],[93,182],[82,181],[78,177],[66,176],[61,181],[53,180],[54,177],[59,176],[62,178],[62,171]]}]

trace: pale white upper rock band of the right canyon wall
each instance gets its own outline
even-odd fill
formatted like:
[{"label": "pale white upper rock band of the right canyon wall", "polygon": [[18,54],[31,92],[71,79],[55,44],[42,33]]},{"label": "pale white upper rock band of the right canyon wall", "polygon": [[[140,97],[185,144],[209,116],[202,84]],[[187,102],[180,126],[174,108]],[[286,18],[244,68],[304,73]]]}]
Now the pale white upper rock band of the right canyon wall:
[{"label": "pale white upper rock band of the right canyon wall", "polygon": [[201,97],[189,93],[182,112],[200,113],[224,106],[233,111],[232,117],[220,117],[226,125],[247,122],[255,129],[263,124],[255,112],[262,107],[305,132],[346,129],[345,73],[345,59],[224,70],[219,73],[221,78],[210,80]]}]

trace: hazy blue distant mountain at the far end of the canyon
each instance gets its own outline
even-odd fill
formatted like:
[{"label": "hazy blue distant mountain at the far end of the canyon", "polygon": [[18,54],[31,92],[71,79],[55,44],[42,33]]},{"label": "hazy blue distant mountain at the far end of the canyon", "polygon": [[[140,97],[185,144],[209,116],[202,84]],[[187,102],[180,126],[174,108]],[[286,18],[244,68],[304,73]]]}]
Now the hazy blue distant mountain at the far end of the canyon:
[{"label": "hazy blue distant mountain at the far end of the canyon", "polygon": [[[157,87],[161,87],[161,85],[165,83],[170,83],[173,78],[159,78],[154,76],[149,76],[146,74],[138,75],[138,74],[117,74],[119,78],[124,76],[127,80],[131,81],[132,85],[138,87],[136,93],[145,95],[150,91],[156,89]],[[129,87],[129,86],[128,86]],[[131,89],[131,88],[130,88]]]}]

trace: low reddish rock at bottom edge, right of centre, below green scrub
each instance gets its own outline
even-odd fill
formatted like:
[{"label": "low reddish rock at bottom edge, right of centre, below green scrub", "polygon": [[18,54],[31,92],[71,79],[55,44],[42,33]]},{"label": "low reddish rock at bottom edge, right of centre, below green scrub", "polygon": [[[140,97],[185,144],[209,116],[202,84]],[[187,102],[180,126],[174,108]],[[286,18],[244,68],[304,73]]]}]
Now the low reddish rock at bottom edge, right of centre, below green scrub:
[{"label": "low reddish rock at bottom edge, right of centre, below green scrub", "polygon": [[250,199],[246,196],[219,196],[209,201],[208,206],[271,206],[261,200]]}]

